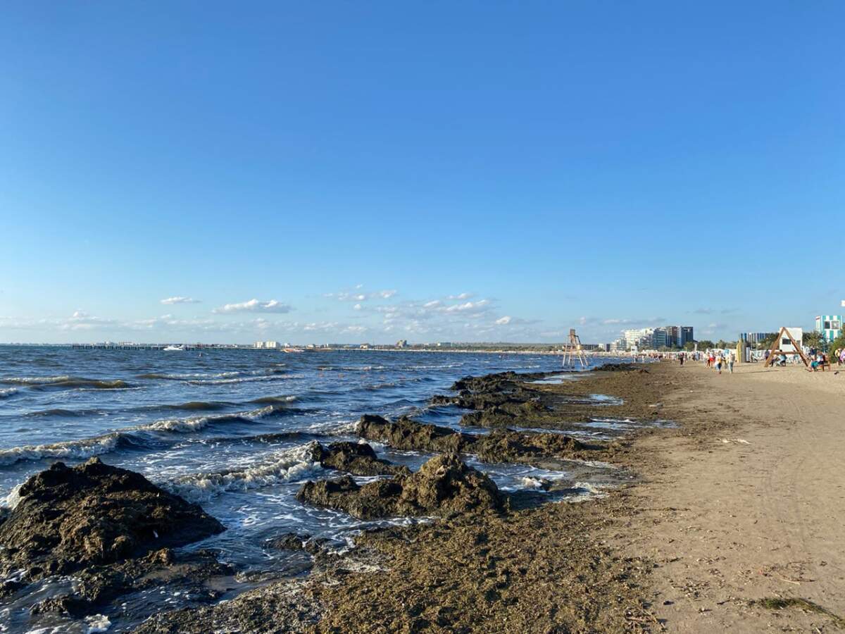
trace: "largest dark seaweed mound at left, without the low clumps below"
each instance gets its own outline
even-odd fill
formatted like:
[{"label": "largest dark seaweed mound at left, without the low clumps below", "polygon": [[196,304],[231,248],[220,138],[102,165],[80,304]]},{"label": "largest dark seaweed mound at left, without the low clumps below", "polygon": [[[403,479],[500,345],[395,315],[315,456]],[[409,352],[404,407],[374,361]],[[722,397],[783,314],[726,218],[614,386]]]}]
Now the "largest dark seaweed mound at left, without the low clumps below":
[{"label": "largest dark seaweed mound at left, without the low clumps below", "polygon": [[223,531],[199,506],[98,458],[77,467],[56,462],[27,480],[19,495],[0,524],[0,565],[25,568],[35,577],[114,563]]}]

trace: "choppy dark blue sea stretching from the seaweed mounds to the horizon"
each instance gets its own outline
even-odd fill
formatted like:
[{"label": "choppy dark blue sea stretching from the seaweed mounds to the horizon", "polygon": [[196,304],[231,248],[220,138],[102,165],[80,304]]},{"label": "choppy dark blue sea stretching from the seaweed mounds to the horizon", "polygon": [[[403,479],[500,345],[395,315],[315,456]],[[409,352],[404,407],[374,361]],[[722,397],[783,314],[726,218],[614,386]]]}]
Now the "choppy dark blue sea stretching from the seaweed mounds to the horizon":
[{"label": "choppy dark blue sea stretching from the seaweed mounds to the horizon", "polygon": [[[56,460],[100,456],[198,502],[227,527],[191,548],[220,549],[246,577],[272,573],[289,555],[264,549],[267,538],[293,530],[342,541],[379,523],[295,500],[303,481],[332,475],[306,460],[308,443],[355,440],[364,413],[457,426],[460,410],[427,406],[456,379],[559,366],[559,357],[522,354],[0,346],[0,500],[14,504],[15,487]],[[412,468],[428,457],[376,449]],[[474,466],[505,489],[561,475]],[[171,597],[167,607],[178,602]],[[114,631],[139,615],[110,618]]]}]

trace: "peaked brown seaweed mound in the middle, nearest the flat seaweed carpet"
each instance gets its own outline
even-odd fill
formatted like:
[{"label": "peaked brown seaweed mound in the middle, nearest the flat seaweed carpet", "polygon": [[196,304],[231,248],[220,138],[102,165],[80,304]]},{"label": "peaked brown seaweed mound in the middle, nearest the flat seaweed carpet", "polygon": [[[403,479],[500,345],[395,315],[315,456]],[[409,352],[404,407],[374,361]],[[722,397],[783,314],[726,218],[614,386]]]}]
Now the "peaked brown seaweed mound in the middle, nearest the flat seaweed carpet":
[{"label": "peaked brown seaweed mound in the middle, nearest the flat seaweed carpet", "polygon": [[499,510],[503,505],[493,480],[467,467],[455,453],[433,457],[410,476],[363,486],[349,476],[308,482],[297,500],[361,519]]}]

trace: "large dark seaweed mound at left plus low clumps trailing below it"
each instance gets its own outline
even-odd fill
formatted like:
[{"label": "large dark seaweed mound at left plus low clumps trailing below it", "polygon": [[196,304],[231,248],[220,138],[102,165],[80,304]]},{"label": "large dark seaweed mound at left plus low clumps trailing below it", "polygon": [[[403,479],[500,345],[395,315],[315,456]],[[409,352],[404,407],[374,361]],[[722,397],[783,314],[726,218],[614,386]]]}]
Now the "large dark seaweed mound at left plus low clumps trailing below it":
[{"label": "large dark seaweed mound at left plus low clumps trailing below it", "polygon": [[139,473],[98,458],[76,467],[57,462],[27,480],[19,495],[0,524],[0,571],[23,569],[21,587],[57,574],[77,579],[73,595],[48,598],[33,613],[85,614],[162,579],[201,587],[204,578],[232,574],[208,551],[172,551],[224,527]]}]

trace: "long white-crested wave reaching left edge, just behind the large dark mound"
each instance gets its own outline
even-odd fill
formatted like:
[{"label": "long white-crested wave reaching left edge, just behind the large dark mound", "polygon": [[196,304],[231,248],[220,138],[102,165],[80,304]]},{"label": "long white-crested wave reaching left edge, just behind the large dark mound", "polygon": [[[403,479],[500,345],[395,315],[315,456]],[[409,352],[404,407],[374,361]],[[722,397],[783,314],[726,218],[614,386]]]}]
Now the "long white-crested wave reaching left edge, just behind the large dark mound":
[{"label": "long white-crested wave reaching left edge, just behind the large dark mound", "polygon": [[21,445],[11,449],[0,450],[0,467],[8,467],[23,460],[42,460],[45,458],[90,458],[111,453],[118,449],[127,448],[149,448],[154,442],[161,440],[150,439],[144,435],[150,432],[169,432],[176,434],[189,434],[205,429],[209,425],[224,423],[254,423],[262,418],[267,418],[284,411],[283,407],[270,405],[261,407],[251,412],[220,414],[218,416],[194,416],[191,418],[166,418],[128,427],[117,429],[108,434],[83,438],[80,440],[63,440],[61,442],[48,443],[45,445]]}]

